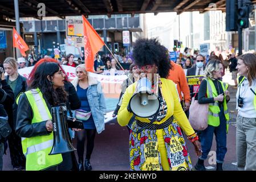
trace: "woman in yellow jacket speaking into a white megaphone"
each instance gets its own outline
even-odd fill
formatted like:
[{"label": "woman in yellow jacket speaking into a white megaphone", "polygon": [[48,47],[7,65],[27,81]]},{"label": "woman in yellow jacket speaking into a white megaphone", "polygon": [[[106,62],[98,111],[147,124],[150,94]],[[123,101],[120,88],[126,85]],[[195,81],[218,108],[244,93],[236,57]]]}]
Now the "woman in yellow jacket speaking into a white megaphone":
[{"label": "woman in yellow jacket speaking into a white megaphone", "polygon": [[[176,86],[172,80],[166,79],[171,68],[167,52],[156,39],[139,39],[133,46],[139,75],[147,79],[141,78],[127,88],[117,114],[121,126],[131,123],[131,170],[192,169],[181,128],[194,144],[196,154],[201,155],[201,144],[182,110]],[[151,82],[150,89],[148,84]],[[145,102],[143,93],[148,94]]]}]

